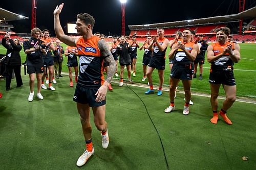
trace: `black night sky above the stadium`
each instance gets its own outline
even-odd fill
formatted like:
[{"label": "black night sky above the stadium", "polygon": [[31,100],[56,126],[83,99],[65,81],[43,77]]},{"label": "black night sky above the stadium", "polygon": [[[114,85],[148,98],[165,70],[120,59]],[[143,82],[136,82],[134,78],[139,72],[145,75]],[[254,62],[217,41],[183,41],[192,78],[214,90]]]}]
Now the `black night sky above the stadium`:
[{"label": "black night sky above the stadium", "polygon": [[[121,5],[119,0],[38,0],[36,10],[37,27],[53,29],[53,10],[56,5],[65,3],[60,14],[62,28],[67,22],[76,20],[78,13],[91,14],[96,22],[94,32],[105,35],[121,34]],[[208,3],[212,3],[210,6]],[[247,0],[245,9],[256,6],[256,1]],[[30,33],[31,0],[1,1],[0,7],[11,12],[29,17],[26,20],[11,22],[15,32]],[[159,22],[172,22],[186,19],[198,19],[212,16],[239,13],[239,0],[215,1],[163,1],[163,0],[127,0],[125,9],[125,31],[129,34],[128,25],[144,25]],[[110,32],[110,33],[109,33]]]}]

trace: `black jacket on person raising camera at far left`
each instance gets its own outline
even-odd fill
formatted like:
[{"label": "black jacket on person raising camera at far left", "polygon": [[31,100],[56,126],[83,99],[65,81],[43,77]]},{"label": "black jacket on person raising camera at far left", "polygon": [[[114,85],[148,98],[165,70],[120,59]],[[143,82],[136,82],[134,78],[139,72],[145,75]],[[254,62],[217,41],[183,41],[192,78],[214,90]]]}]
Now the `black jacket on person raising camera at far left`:
[{"label": "black jacket on person raising camera at far left", "polygon": [[[10,44],[6,42],[5,38],[2,40],[3,46],[7,49],[4,63],[8,65],[22,65],[22,59],[19,55],[20,50],[22,50],[22,46],[20,44],[16,45],[12,39],[9,39],[9,42]],[[11,57],[8,56],[10,53]]]}]

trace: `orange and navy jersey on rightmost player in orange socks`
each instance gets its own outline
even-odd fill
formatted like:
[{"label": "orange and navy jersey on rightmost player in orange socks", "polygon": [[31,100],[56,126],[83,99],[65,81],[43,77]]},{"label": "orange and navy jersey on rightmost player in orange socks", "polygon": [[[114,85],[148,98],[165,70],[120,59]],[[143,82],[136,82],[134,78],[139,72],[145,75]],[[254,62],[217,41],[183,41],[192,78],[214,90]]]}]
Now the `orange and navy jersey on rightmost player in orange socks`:
[{"label": "orange and navy jersey on rightmost player in orange socks", "polygon": [[[217,56],[218,54],[221,54],[224,51],[224,48],[229,44],[230,42],[226,42],[223,45],[220,45],[219,42],[213,43],[212,47],[213,47],[213,51],[214,51],[214,56]],[[232,50],[234,50],[234,43],[231,42],[232,44]],[[229,54],[226,53],[224,54],[221,58],[219,58],[218,60],[214,61],[211,63],[211,69],[215,69],[215,70],[223,70],[227,67],[231,67],[233,66],[234,63],[233,61],[230,59]]]}]

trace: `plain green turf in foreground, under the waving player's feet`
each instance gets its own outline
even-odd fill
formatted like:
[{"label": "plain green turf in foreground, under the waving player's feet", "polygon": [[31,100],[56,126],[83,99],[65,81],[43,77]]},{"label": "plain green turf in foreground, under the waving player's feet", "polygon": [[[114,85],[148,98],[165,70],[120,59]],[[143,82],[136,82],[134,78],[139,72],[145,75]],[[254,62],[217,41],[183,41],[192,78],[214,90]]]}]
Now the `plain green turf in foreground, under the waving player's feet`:
[{"label": "plain green turf in foreground, under the waving player's feet", "polygon": [[[0,169],[79,169],[84,139],[72,101],[75,87],[63,76],[56,91],[42,90],[45,99],[33,102],[27,101],[28,75],[22,88],[13,80],[9,91],[0,81]],[[193,96],[195,105],[184,116],[184,94],[177,93],[177,110],[165,114],[167,91],[145,95],[142,87],[112,86],[106,96],[109,148],[101,147],[91,120],[95,154],[80,169],[255,169],[255,104],[235,102],[228,111],[233,125],[222,119],[213,125],[209,98]]]}]

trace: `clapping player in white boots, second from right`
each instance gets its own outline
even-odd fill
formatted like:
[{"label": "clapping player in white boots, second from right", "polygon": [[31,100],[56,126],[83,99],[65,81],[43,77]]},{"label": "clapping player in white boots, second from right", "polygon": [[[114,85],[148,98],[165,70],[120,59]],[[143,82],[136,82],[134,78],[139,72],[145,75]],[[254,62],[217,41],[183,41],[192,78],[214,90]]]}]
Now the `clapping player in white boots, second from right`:
[{"label": "clapping player in white boots, second from right", "polygon": [[190,41],[192,36],[192,31],[190,29],[185,29],[182,32],[182,41],[175,43],[168,55],[169,59],[174,58],[174,65],[170,71],[170,105],[164,110],[165,113],[170,113],[175,110],[175,90],[181,80],[185,91],[185,105],[182,113],[184,115],[189,114],[189,101],[191,98],[190,87],[194,70],[193,63],[199,50],[198,45]]}]

